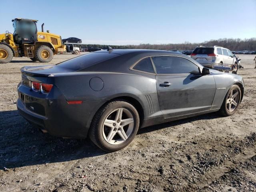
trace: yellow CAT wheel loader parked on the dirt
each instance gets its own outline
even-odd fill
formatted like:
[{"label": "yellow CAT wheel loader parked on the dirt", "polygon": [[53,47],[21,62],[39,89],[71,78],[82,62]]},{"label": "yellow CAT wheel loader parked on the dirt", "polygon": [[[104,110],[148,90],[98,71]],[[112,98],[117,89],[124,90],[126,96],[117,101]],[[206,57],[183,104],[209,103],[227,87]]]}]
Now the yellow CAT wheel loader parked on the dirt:
[{"label": "yellow CAT wheel loader parked on the dirt", "polygon": [[28,57],[32,61],[50,62],[53,55],[66,51],[61,36],[38,32],[38,20],[15,18],[12,20],[14,33],[0,34],[0,63],[8,63],[13,57]]}]

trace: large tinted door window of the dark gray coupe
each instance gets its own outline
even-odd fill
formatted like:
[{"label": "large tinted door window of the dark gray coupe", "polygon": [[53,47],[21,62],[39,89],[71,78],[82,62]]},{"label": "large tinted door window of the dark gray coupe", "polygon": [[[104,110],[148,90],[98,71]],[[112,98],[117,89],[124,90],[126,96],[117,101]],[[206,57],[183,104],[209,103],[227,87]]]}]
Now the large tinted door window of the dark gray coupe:
[{"label": "large tinted door window of the dark gray coupe", "polygon": [[199,68],[188,59],[172,56],[152,57],[157,74],[199,73]]}]

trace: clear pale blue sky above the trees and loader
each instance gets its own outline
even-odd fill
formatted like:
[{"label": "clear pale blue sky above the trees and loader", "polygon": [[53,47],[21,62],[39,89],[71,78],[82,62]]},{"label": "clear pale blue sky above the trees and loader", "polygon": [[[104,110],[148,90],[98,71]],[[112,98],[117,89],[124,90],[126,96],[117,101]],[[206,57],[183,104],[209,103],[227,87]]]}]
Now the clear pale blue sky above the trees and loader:
[{"label": "clear pale blue sky above the trees and loader", "polygon": [[13,18],[86,44],[166,44],[256,37],[256,0],[4,0],[0,33]]}]

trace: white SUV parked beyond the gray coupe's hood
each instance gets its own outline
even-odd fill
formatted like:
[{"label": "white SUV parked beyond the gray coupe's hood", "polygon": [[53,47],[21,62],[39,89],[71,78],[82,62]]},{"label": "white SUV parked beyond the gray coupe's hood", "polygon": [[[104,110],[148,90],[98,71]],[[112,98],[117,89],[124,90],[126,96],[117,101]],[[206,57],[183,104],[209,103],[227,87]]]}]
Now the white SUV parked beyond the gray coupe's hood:
[{"label": "white SUV parked beyond the gray coupe's hood", "polygon": [[191,58],[202,66],[218,70],[233,70],[236,61],[232,52],[220,46],[199,46]]}]

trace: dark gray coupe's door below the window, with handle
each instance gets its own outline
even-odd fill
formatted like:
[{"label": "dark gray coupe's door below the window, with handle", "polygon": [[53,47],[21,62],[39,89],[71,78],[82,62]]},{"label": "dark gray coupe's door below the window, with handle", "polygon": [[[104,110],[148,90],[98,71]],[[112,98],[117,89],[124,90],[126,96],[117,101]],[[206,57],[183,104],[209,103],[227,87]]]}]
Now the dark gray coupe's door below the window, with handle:
[{"label": "dark gray coupe's door below the window, with handle", "polygon": [[216,90],[210,74],[156,75],[156,86],[164,118],[210,110]]}]

